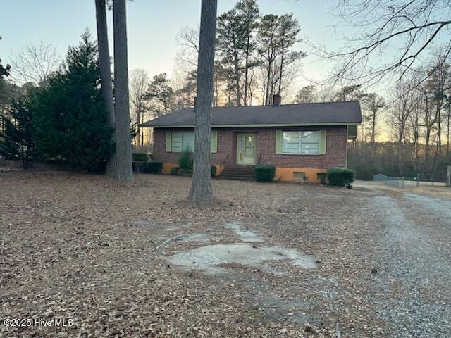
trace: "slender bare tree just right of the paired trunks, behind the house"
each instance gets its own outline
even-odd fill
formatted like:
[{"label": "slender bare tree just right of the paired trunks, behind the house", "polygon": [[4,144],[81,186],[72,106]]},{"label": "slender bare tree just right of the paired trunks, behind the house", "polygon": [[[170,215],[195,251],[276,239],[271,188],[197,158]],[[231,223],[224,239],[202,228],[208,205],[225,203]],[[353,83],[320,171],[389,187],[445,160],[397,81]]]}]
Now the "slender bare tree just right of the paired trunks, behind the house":
[{"label": "slender bare tree just right of the paired trunks, behind the house", "polygon": [[149,73],[145,69],[132,69],[130,71],[130,103],[133,108],[133,123],[137,125],[137,134],[135,144],[144,145],[144,134],[140,127],[144,111],[147,111],[145,94],[149,84]]}]

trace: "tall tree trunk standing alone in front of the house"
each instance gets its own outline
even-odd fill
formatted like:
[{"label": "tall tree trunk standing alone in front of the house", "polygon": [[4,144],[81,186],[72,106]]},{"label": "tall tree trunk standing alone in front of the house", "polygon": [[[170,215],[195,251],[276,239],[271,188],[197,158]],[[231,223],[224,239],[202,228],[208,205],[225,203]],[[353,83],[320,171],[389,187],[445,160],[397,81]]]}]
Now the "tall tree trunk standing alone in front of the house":
[{"label": "tall tree trunk standing alone in front of the house", "polygon": [[199,56],[197,61],[197,107],[194,170],[189,199],[211,201],[211,98],[213,97],[214,42],[218,0],[202,0]]}]

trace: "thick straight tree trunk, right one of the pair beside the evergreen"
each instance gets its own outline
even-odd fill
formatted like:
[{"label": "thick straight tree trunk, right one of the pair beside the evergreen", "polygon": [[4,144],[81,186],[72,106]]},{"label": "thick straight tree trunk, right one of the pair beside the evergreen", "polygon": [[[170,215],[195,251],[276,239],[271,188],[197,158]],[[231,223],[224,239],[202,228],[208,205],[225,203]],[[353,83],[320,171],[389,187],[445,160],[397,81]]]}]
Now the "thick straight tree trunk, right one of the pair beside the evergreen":
[{"label": "thick straight tree trunk, right one of the pair beside the evergreen", "polygon": [[126,0],[113,1],[114,115],[116,124],[116,165],[114,178],[133,180],[130,102],[128,96]]}]

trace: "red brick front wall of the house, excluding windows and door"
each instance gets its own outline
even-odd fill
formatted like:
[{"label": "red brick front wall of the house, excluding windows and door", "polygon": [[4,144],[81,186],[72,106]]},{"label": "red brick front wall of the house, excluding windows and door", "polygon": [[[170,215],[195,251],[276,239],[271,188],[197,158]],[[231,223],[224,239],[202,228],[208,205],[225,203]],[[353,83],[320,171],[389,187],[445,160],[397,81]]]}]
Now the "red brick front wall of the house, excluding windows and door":
[{"label": "red brick front wall of the house, excluding windows and door", "polygon": [[[327,143],[325,155],[283,155],[276,154],[276,130],[271,128],[216,128],[218,131],[218,152],[211,154],[213,165],[235,165],[237,132],[256,132],[257,159],[261,164],[272,164],[276,167],[287,168],[330,168],[345,167],[347,129],[340,127],[284,127],[283,130],[327,130]],[[177,129],[180,131],[180,128]],[[186,129],[190,130],[190,129]],[[166,129],[154,130],[153,158],[163,163],[177,163],[180,153],[166,153]]]}]

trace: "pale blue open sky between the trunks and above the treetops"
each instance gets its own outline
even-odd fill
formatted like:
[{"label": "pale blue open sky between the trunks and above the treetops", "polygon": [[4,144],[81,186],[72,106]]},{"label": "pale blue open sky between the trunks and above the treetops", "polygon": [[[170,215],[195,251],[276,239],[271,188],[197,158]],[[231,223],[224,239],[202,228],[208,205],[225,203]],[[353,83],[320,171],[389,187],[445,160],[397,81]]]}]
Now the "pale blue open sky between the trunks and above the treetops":
[{"label": "pale blue open sky between the trunks and above the treetops", "polygon": [[[259,0],[261,13],[283,14],[292,12],[299,20],[302,35],[313,42],[339,46],[340,38],[348,30],[335,32],[336,18],[328,13],[333,0]],[[218,0],[218,13],[235,5],[235,0]],[[45,39],[57,46],[61,56],[67,47],[78,43],[80,34],[89,28],[96,32],[94,0],[2,0],[0,21],[0,57],[4,63],[8,56],[24,44],[37,44]],[[112,13],[109,16],[111,31]],[[175,37],[183,25],[197,27],[200,0],[134,0],[128,2],[129,68],[144,68],[150,75],[171,75],[175,53]],[[112,32],[110,32],[112,47]],[[308,52],[307,46],[297,44],[297,50]],[[308,56],[302,63],[302,73],[318,80],[325,69]],[[300,82],[305,82],[300,79]]]}]

